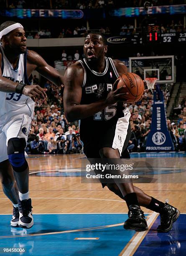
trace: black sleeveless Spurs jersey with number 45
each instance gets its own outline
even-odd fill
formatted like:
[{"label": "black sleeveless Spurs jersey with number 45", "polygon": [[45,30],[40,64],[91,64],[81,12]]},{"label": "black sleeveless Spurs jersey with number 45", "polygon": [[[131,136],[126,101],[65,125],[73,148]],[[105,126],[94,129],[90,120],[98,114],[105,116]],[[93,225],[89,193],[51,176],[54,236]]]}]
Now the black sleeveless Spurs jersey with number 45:
[{"label": "black sleeveless Spurs jersey with number 45", "polygon": [[[84,81],[82,84],[81,104],[90,104],[98,100],[106,99],[116,79],[119,77],[115,64],[111,58],[105,57],[104,72],[98,73],[90,69],[86,59],[79,60],[84,69]],[[80,133],[91,134],[99,132],[107,125],[117,122],[124,116],[122,102],[107,106],[104,110],[81,120]],[[88,130],[88,131],[87,131]]]}]

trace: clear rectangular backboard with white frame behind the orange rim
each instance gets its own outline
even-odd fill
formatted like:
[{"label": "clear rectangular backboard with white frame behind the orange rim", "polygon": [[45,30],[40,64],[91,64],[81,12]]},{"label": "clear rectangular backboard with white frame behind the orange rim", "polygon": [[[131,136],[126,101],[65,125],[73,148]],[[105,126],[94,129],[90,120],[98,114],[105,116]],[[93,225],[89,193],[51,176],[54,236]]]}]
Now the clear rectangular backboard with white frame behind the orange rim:
[{"label": "clear rectangular backboard with white frame behind the orange rim", "polygon": [[129,69],[143,80],[156,77],[158,83],[175,82],[173,55],[130,57]]}]

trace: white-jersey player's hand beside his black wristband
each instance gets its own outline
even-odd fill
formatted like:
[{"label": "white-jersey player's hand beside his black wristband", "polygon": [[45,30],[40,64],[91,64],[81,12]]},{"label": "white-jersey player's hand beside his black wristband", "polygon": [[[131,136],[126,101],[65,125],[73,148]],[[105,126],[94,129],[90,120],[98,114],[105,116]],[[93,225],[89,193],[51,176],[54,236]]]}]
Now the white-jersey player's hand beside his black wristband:
[{"label": "white-jersey player's hand beside his black wristband", "polygon": [[41,88],[38,84],[26,85],[23,88],[23,94],[31,97],[33,101],[35,101],[36,97],[44,100],[47,97],[46,91],[47,89]]}]

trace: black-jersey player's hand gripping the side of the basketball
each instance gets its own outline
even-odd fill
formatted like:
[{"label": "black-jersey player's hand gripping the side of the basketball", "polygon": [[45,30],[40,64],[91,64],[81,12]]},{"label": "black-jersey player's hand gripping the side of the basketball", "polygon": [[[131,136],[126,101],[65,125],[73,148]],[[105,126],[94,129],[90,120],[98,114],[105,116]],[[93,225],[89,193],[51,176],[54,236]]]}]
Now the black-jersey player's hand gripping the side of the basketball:
[{"label": "black-jersey player's hand gripping the side of the basketball", "polygon": [[120,88],[117,88],[117,84],[120,81],[120,79],[117,79],[115,83],[113,84],[112,90],[109,92],[106,98],[106,102],[108,105],[113,105],[118,101],[125,101],[125,95],[128,94],[128,92],[120,93],[123,88],[126,86],[122,86]]}]

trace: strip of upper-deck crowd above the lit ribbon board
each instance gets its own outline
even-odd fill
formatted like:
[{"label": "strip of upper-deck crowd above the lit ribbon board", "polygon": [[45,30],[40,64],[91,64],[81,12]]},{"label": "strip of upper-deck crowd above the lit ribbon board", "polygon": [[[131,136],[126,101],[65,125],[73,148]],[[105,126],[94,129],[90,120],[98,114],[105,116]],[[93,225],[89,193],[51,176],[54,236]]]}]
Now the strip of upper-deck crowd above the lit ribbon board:
[{"label": "strip of upper-deck crowd above the lit ribbon board", "polygon": [[143,7],[148,5],[178,5],[185,4],[184,0],[12,0],[2,1],[6,8],[48,8],[48,9],[93,9],[93,8],[125,8]]}]

